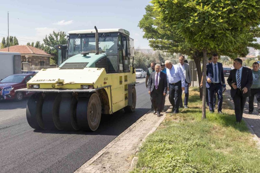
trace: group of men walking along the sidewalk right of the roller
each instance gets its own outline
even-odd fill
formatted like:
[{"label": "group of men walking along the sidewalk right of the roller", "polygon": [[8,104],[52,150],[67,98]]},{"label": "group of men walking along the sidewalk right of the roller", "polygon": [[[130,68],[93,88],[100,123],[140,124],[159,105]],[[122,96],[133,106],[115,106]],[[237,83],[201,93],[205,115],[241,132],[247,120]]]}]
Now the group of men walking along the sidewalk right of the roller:
[{"label": "group of men walking along the sidewalk right of the roller", "polygon": [[[152,110],[157,116],[161,116],[164,110],[165,97],[169,91],[169,101],[172,105],[171,112],[177,114],[179,108],[183,107],[182,93],[184,91],[184,108],[188,108],[189,87],[192,82],[189,64],[185,62],[185,57],[179,57],[179,63],[173,65],[171,61],[164,63],[151,63],[146,76],[146,88],[151,95]],[[242,60],[237,58],[233,61],[234,68],[231,70],[227,83],[231,86],[231,97],[235,105],[236,122],[240,123],[244,112],[246,97],[249,97],[249,114],[252,114],[254,106],[254,97],[257,99],[258,113],[260,115],[260,70],[257,62],[250,68],[242,66]],[[207,106],[211,113],[218,110],[222,114],[223,90],[226,87],[222,63],[218,62],[218,54],[213,54],[206,66],[206,88],[207,88]],[[204,76],[204,75],[203,75]],[[203,77],[200,87],[202,87]],[[148,82],[148,83],[147,83]],[[218,106],[216,104],[216,94],[218,97]]]}]

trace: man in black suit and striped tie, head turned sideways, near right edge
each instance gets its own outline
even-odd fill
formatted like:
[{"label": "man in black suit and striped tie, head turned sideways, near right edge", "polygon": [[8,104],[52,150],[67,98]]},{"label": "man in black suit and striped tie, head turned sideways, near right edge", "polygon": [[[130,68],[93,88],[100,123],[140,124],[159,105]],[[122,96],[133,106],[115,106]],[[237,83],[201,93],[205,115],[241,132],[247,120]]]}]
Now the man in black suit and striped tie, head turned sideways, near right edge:
[{"label": "man in black suit and striped tie, head turned sideways, near right edge", "polygon": [[235,69],[230,71],[227,82],[231,86],[230,95],[235,105],[237,123],[242,120],[246,97],[250,96],[250,88],[253,82],[252,70],[242,66],[243,61],[239,58],[234,60]]}]

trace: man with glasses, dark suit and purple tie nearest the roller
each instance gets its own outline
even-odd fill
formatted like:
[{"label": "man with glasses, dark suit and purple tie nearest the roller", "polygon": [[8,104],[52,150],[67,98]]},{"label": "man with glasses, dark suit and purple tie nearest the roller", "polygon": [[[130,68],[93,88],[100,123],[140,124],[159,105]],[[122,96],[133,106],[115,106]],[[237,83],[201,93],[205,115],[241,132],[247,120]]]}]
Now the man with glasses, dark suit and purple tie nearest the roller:
[{"label": "man with glasses, dark suit and purple tie nearest the roller", "polygon": [[161,72],[161,65],[155,65],[155,72],[152,72],[149,79],[149,91],[148,93],[152,97],[152,104],[153,104],[153,114],[157,116],[161,116],[161,109],[162,109],[162,99],[163,96],[167,93],[167,76],[165,73]]}]

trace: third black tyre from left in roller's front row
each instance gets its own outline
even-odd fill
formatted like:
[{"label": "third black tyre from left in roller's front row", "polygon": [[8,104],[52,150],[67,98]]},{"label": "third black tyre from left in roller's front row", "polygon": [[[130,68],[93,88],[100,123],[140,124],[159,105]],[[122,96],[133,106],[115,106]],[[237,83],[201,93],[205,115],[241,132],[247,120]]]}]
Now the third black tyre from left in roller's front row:
[{"label": "third black tyre from left in roller's front row", "polygon": [[61,126],[68,130],[79,130],[76,118],[77,99],[71,93],[62,93],[59,110]]}]

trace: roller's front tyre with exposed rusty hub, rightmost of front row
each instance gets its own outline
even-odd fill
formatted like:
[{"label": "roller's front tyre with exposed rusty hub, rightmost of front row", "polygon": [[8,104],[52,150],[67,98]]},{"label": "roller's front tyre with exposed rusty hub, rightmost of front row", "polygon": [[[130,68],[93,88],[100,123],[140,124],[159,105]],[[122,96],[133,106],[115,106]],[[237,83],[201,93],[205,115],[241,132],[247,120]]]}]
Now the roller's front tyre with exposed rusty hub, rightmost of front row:
[{"label": "roller's front tyre with exposed rusty hub, rightmost of front row", "polygon": [[99,96],[94,93],[90,98],[78,100],[77,123],[82,130],[95,131],[101,119],[101,103]]}]

